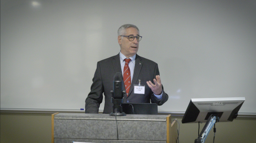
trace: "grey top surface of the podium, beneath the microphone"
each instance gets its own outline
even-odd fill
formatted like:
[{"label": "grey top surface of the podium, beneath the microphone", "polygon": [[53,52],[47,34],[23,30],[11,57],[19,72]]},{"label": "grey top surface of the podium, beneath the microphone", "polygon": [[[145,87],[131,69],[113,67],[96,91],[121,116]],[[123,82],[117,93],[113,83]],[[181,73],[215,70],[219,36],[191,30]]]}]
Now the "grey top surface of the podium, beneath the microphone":
[{"label": "grey top surface of the podium, beneath the microphone", "polygon": [[142,120],[142,121],[166,121],[168,115],[142,115],[127,114],[125,116],[110,116],[109,114],[86,114],[86,113],[58,113],[54,119],[73,120]]}]

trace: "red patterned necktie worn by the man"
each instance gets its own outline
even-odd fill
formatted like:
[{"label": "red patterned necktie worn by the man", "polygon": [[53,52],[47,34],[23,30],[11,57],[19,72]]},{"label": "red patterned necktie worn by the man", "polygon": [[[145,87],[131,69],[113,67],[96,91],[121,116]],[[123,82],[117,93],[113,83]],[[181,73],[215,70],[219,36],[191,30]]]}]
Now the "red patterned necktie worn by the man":
[{"label": "red patterned necktie worn by the man", "polygon": [[124,80],[124,86],[126,90],[126,96],[128,96],[129,90],[131,87],[131,72],[128,64],[131,61],[131,59],[124,59],[124,61],[125,61],[125,65],[123,67],[123,80]]}]

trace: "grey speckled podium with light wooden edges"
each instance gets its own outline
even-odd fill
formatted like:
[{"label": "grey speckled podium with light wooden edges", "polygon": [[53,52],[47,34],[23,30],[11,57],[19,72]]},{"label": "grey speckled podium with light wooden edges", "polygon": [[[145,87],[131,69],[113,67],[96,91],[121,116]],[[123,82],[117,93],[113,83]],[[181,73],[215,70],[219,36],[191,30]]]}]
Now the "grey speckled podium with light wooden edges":
[{"label": "grey speckled podium with light wooden edges", "polygon": [[52,114],[52,142],[176,142],[170,115]]}]

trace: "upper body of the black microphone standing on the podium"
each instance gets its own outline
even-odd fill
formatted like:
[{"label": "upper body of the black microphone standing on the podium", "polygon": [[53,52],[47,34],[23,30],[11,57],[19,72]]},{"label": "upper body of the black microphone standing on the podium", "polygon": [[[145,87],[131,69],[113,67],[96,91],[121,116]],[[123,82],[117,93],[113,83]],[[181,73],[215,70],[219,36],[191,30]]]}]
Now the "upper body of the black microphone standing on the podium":
[{"label": "upper body of the black microphone standing on the podium", "polygon": [[114,75],[113,92],[114,92],[114,96],[113,96],[114,99],[123,98],[123,76],[121,73],[116,73]]}]

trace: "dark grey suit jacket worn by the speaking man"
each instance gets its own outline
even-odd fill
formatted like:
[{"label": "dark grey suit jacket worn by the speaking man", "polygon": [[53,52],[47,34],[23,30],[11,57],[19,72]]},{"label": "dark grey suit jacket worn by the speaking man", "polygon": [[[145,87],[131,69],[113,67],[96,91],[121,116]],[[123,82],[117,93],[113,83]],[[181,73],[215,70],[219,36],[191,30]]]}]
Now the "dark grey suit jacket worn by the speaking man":
[{"label": "dark grey suit jacket worn by the speaking man", "polygon": [[[86,99],[86,113],[98,113],[100,103],[102,102],[104,92],[105,105],[103,113],[113,112],[111,103],[111,90],[113,90],[114,75],[119,72],[122,73],[119,54],[97,63],[97,69],[93,77],[93,84],[91,86],[91,92]],[[146,84],[146,81],[154,83],[153,79],[159,75],[159,69],[157,63],[136,55],[134,75],[130,92],[127,96],[124,96],[123,103],[157,103],[162,105],[168,100],[168,95],[162,90],[162,100],[157,100],[153,91]],[[134,84],[145,85],[145,94],[133,93]],[[162,87],[163,89],[163,87]],[[124,89],[125,90],[125,89]]]}]

